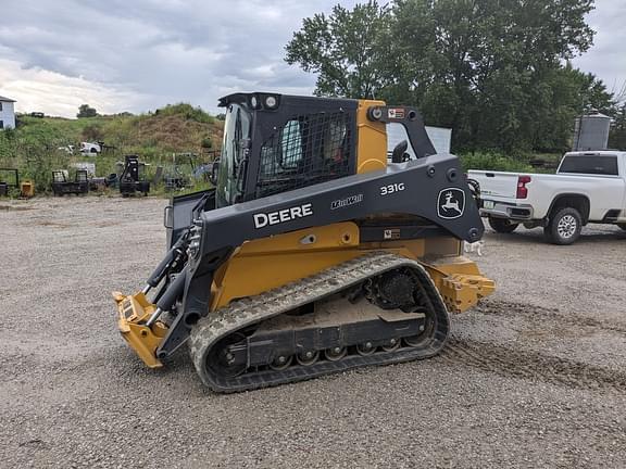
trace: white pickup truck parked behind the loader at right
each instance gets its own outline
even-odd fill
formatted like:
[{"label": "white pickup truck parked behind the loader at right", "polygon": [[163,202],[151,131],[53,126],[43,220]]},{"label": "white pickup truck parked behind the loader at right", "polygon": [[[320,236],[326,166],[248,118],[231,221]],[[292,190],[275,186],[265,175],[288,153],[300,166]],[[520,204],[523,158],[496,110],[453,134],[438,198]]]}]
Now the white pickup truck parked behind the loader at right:
[{"label": "white pickup truck parked behind the loader at right", "polygon": [[589,223],[626,230],[626,152],[565,153],[556,174],[470,170],[480,185],[480,214],[498,232],[543,227],[555,244],[572,244]]}]

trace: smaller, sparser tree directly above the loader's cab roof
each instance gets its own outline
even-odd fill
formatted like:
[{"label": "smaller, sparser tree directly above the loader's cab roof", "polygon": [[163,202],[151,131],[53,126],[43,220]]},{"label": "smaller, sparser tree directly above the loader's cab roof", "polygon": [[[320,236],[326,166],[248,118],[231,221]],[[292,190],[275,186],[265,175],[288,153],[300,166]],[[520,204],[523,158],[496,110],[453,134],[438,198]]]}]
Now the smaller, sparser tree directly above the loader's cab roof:
[{"label": "smaller, sparser tree directly above the loader's cab roof", "polygon": [[285,48],[285,60],[317,74],[315,93],[349,98],[374,98],[385,84],[389,11],[375,0],[329,15],[304,18],[302,28]]}]

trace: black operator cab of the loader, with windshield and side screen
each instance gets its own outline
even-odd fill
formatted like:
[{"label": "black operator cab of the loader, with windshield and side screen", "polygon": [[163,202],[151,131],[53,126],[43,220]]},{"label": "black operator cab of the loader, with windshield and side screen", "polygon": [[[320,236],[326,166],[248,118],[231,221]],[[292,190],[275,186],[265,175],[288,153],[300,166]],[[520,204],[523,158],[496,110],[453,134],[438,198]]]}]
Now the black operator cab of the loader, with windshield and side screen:
[{"label": "black operator cab of the loader, with windshield and side screen", "polygon": [[220,105],[217,207],[355,173],[356,100],[237,93]]}]

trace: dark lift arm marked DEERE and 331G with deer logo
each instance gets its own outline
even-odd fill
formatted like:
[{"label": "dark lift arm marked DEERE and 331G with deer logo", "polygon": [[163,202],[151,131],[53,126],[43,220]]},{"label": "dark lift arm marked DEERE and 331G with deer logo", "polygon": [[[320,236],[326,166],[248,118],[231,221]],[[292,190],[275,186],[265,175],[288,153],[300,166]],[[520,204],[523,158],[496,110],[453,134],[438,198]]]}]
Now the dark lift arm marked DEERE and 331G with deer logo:
[{"label": "dark lift arm marked DEERE and 331G with deer logo", "polygon": [[[304,189],[217,208],[200,214],[201,243],[189,259],[185,314],[192,295],[209,294],[201,277],[218,267],[224,250],[243,241],[371,215],[403,214],[425,219],[458,239],[474,242],[484,232],[483,221],[456,156],[437,154],[389,166],[384,172],[348,176]],[[197,284],[198,283],[198,284]],[[205,299],[206,300],[206,299]]]}]

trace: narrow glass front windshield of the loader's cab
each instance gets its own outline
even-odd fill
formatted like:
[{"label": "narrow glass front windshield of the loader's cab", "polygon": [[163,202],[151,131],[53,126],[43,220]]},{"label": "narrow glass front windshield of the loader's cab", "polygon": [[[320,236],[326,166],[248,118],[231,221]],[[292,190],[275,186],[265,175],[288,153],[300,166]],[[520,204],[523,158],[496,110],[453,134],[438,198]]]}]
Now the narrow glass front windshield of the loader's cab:
[{"label": "narrow glass front windshield of the loader's cab", "polygon": [[215,189],[217,206],[235,203],[243,190],[243,150],[250,140],[250,114],[239,104],[230,104],[224,123],[224,141]]}]

